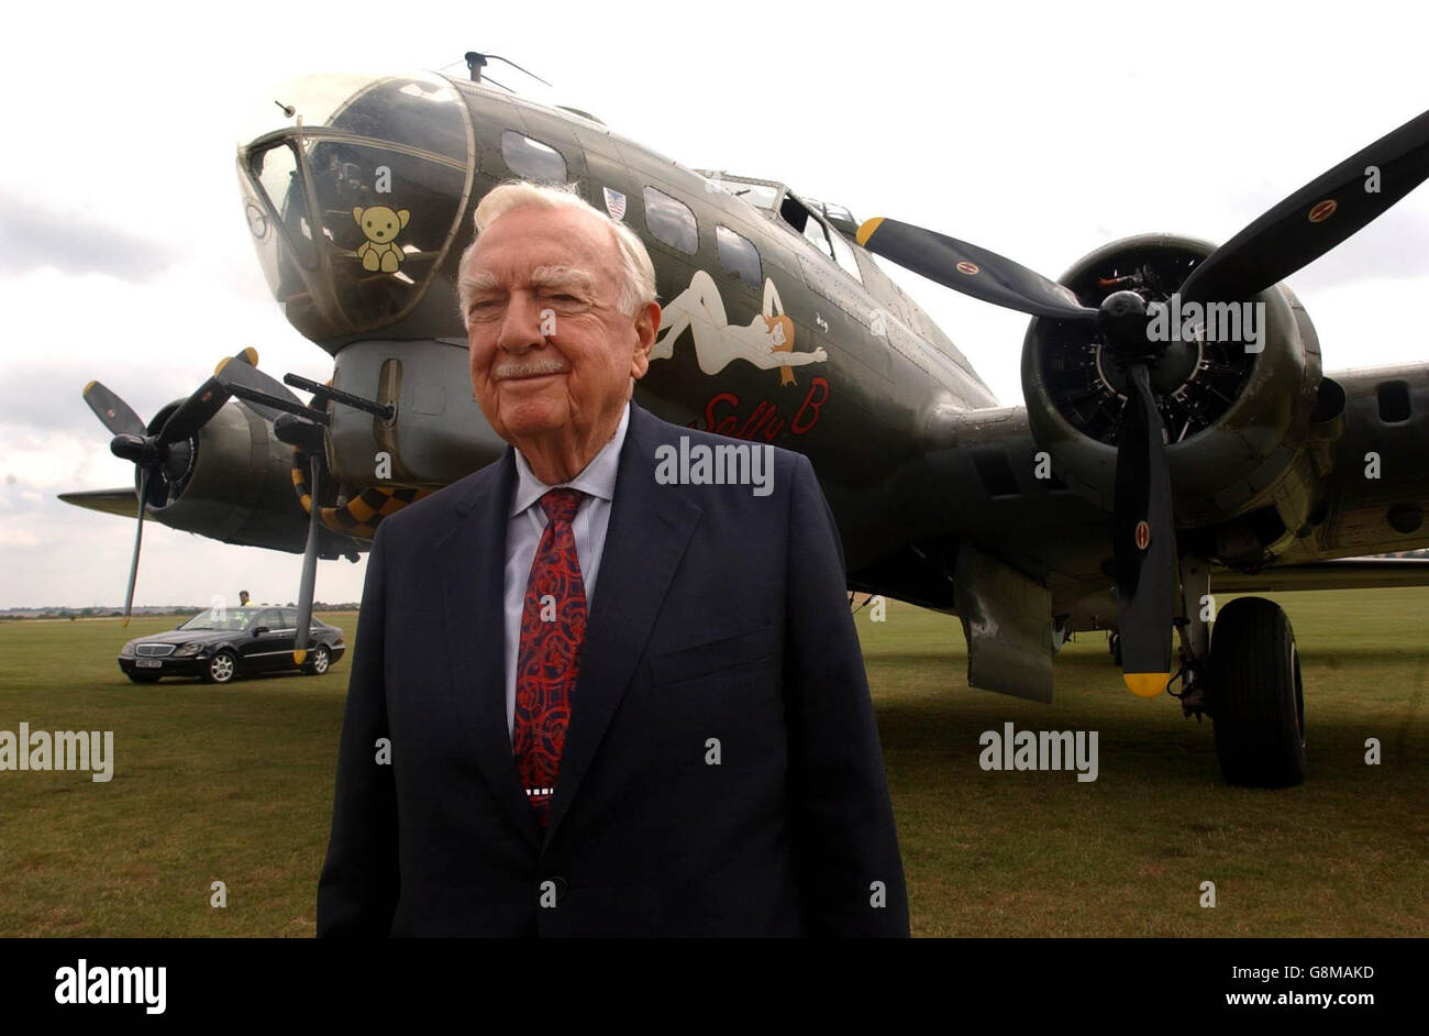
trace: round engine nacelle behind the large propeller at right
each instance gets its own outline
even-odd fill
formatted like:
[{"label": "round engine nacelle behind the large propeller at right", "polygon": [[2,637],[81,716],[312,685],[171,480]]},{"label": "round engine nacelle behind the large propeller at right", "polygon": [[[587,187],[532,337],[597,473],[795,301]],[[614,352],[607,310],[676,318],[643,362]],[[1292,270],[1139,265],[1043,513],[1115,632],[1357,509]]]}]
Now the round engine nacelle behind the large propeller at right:
[{"label": "round engine nacelle behind the large propeller at right", "polygon": [[[1125,289],[1167,302],[1212,250],[1189,237],[1146,234],[1093,251],[1060,280],[1083,306]],[[1295,294],[1276,284],[1249,302],[1259,316],[1253,339],[1246,326],[1239,339],[1198,333],[1169,344],[1150,372],[1167,429],[1177,524],[1216,526],[1273,509],[1273,519],[1262,516],[1258,543],[1216,543],[1210,553],[1219,556],[1255,554],[1306,529],[1323,476],[1308,449],[1312,414],[1316,426],[1336,417],[1315,413],[1319,339]],[[1085,327],[1035,319],[1023,343],[1022,386],[1032,433],[1053,472],[1112,510],[1126,382],[1109,350]]]}]

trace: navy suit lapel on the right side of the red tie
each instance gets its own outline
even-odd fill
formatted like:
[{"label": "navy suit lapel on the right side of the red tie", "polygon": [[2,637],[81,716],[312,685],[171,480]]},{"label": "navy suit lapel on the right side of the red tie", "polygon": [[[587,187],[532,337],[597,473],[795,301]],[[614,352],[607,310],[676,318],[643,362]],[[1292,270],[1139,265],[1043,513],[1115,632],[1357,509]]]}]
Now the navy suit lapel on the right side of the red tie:
[{"label": "navy suit lapel on the right side of the red tie", "polygon": [[560,757],[546,845],[550,845],[612,716],[620,707],[670,580],[699,522],[696,503],[654,482],[654,449],[663,442],[663,427],[656,417],[630,404],[630,424],[620,449],[596,583],[600,592],[590,607],[586,643],[580,652],[580,674],[572,693],[570,727]]}]

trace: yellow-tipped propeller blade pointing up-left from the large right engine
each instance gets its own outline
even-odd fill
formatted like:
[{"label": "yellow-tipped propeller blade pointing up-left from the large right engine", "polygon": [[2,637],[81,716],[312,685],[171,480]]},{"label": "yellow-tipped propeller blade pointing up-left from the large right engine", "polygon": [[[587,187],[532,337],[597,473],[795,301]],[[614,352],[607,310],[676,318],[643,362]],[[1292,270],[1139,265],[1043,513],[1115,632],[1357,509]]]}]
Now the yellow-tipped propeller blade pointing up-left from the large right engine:
[{"label": "yellow-tipped propeller blade pointing up-left from the large right engine", "polygon": [[859,227],[856,240],[869,251],[913,273],[1003,309],[1057,320],[1090,322],[1097,316],[1095,309],[1079,303],[1069,289],[1055,280],[996,251],[912,223],[872,219]]}]

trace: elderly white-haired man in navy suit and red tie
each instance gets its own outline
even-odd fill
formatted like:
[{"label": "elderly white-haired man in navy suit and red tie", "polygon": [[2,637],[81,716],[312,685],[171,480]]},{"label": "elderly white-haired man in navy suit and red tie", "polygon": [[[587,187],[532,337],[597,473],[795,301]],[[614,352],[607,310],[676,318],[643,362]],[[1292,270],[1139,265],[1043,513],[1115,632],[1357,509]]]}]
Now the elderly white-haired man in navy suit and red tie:
[{"label": "elderly white-haired man in navy suit and red tie", "polygon": [[630,399],[660,322],[640,239],[526,183],[476,229],[472,387],[512,449],[373,540],[319,935],[907,935],[809,462],[662,476],[680,437],[732,440]]}]

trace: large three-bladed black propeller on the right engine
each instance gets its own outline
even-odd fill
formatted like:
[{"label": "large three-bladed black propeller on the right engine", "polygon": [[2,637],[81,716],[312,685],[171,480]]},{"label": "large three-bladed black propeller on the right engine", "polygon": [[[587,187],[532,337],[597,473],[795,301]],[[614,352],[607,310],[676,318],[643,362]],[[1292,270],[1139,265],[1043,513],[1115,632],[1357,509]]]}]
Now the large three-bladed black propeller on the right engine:
[{"label": "large three-bladed black propeller on the right engine", "polygon": [[[1180,284],[1195,302],[1239,302],[1319,259],[1429,179],[1429,111],[1410,119],[1269,209],[1208,256]],[[1112,516],[1122,670],[1142,697],[1170,679],[1176,614],[1176,527],[1165,426],[1150,370],[1165,343],[1146,334],[1146,299],[1113,292],[1099,309],[995,251],[910,223],[859,227],[869,251],[955,292],[1030,316],[1093,324],[1126,373]]]}]

